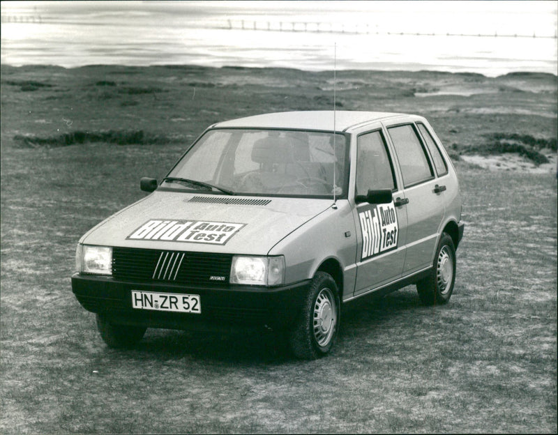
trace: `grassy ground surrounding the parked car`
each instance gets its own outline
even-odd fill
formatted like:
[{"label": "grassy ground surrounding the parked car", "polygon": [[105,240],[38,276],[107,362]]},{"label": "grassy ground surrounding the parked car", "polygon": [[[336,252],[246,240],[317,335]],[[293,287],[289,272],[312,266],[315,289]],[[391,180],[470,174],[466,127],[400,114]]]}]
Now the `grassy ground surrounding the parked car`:
[{"label": "grassy ground surrounding the parked car", "polygon": [[[338,77],[341,108],[425,114],[456,158],[496,133],[557,136],[552,77]],[[327,358],[171,330],[112,351],[70,289],[79,236],[210,123],[328,109],[329,75],[3,67],[1,80],[1,433],[556,432],[555,174],[457,162],[451,303],[422,307],[414,287],[361,300]]]}]

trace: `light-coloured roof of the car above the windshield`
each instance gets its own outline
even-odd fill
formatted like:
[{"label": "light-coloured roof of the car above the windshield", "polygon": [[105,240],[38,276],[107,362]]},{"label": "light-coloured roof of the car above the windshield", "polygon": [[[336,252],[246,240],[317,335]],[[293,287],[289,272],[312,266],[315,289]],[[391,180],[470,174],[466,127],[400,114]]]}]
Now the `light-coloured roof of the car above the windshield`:
[{"label": "light-coloured roof of the car above the windshield", "polygon": [[408,114],[390,112],[357,112],[349,110],[315,110],[301,112],[277,112],[231,119],[212,125],[212,128],[287,128],[294,130],[333,131],[335,114],[335,131],[344,132],[375,121],[384,121],[397,117],[409,117]]}]

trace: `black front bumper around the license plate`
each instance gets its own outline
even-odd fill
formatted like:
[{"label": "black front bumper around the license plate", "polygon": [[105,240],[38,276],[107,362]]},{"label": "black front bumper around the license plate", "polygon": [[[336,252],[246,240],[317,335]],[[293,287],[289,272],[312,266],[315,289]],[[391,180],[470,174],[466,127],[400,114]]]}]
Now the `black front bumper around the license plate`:
[{"label": "black front bumper around the license plate", "polygon": [[[309,285],[310,280],[269,288],[240,285],[184,287],[166,282],[126,282],[79,273],[72,277],[72,290],[82,307],[104,314],[116,324],[193,330],[223,330],[234,326],[285,328],[296,319]],[[132,290],[197,294],[202,314],[134,309]]]}]

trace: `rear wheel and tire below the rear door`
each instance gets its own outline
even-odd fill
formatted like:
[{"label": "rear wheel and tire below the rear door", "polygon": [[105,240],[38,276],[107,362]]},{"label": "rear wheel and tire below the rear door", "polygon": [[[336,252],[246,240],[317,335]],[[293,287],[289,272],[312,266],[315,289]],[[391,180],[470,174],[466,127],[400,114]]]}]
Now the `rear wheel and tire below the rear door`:
[{"label": "rear wheel and tire below the rear door", "polygon": [[451,298],[455,284],[455,247],[447,233],[438,243],[430,276],[416,283],[416,290],[424,305],[445,304]]}]

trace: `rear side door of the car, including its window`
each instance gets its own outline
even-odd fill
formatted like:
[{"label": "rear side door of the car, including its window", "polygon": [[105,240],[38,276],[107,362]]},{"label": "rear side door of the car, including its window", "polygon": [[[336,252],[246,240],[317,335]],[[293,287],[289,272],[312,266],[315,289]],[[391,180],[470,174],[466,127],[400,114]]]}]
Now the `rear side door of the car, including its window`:
[{"label": "rear side door of the car, including its window", "polygon": [[444,195],[443,190],[439,191],[434,164],[417,125],[386,125],[386,129],[399,162],[407,202],[403,275],[409,275],[432,265],[444,220]]}]

